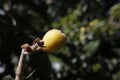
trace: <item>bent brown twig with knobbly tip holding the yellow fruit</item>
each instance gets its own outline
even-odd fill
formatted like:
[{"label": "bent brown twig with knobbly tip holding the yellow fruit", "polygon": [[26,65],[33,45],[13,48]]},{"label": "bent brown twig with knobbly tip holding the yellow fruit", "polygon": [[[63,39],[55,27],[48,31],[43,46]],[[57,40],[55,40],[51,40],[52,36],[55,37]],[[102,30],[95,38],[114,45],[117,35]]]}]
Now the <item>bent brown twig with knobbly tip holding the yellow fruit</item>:
[{"label": "bent brown twig with knobbly tip holding the yellow fruit", "polygon": [[37,38],[33,41],[32,46],[30,46],[29,44],[24,44],[21,46],[22,51],[21,51],[19,63],[18,63],[17,69],[16,69],[15,80],[22,80],[23,67],[24,67],[26,55],[37,52],[37,51],[41,51],[43,44],[44,44],[44,42],[42,40],[40,40],[39,38]]}]

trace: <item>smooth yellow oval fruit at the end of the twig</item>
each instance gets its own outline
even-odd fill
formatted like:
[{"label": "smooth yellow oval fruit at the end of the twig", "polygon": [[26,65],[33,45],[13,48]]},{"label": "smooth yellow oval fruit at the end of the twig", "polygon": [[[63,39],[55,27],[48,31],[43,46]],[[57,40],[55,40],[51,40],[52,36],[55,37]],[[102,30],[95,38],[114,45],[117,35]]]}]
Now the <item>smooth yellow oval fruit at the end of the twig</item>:
[{"label": "smooth yellow oval fruit at the end of the twig", "polygon": [[43,51],[56,52],[61,49],[66,43],[66,35],[60,30],[49,30],[42,39],[44,41]]}]

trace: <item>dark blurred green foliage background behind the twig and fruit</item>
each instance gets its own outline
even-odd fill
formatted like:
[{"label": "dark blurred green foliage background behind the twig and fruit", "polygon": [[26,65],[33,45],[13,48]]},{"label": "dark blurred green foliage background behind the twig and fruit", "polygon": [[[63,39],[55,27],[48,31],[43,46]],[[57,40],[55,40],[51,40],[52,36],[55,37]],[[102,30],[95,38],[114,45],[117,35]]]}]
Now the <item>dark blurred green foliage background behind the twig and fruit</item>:
[{"label": "dark blurred green foliage background behind the twig and fruit", "polygon": [[14,80],[20,46],[52,28],[63,49],[27,56],[30,80],[119,80],[120,0],[0,0],[0,80]]}]

